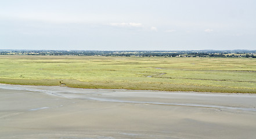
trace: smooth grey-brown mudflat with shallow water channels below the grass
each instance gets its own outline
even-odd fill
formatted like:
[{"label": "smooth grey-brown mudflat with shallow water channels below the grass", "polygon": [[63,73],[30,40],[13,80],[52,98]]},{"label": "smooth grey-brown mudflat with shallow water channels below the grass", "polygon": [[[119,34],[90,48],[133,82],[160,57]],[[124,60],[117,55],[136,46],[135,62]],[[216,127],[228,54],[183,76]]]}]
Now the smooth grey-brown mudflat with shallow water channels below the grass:
[{"label": "smooth grey-brown mudflat with shallow water channels below the grass", "polygon": [[256,138],[256,95],[0,84],[0,138]]}]

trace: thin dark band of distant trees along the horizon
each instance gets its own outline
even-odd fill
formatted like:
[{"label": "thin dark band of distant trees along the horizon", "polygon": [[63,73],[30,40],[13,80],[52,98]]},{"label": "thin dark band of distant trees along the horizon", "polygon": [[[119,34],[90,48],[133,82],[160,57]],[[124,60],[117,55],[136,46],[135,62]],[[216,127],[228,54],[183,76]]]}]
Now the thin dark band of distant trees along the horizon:
[{"label": "thin dark band of distant trees along the horizon", "polygon": [[89,51],[89,50],[0,50],[1,55],[40,56],[139,56],[139,57],[252,57],[256,50],[186,50],[186,51]]}]

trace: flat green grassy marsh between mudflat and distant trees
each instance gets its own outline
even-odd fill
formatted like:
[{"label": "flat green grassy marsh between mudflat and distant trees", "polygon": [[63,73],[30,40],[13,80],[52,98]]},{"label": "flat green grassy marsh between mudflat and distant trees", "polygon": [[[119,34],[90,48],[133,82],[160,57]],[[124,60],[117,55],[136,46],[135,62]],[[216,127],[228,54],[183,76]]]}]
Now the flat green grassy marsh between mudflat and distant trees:
[{"label": "flat green grassy marsh between mudflat and distant trees", "polygon": [[256,93],[256,58],[0,56],[0,83]]}]

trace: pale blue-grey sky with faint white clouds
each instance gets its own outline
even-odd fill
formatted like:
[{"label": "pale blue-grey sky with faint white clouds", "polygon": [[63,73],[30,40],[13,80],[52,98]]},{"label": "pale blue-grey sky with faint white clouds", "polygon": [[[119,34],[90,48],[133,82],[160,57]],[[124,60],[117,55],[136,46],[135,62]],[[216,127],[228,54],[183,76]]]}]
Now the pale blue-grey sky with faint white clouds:
[{"label": "pale blue-grey sky with faint white clouds", "polygon": [[0,0],[0,49],[256,50],[256,1]]}]

